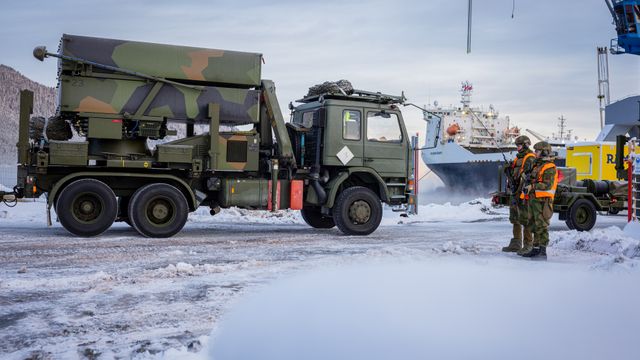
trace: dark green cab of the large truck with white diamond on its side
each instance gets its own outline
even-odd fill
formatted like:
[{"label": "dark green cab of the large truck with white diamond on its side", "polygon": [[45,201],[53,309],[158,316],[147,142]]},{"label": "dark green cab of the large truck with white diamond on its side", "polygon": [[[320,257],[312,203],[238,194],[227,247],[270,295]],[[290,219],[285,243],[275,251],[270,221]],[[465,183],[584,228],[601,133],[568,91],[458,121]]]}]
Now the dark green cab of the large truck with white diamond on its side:
[{"label": "dark green cab of the large truck with white diamond on its side", "polygon": [[[293,108],[288,127],[296,161],[312,170],[319,160],[330,187],[324,207],[350,186],[366,187],[390,205],[405,203],[413,168],[401,98],[356,92],[308,97]],[[306,200],[317,203],[317,194],[310,191]]]}]

